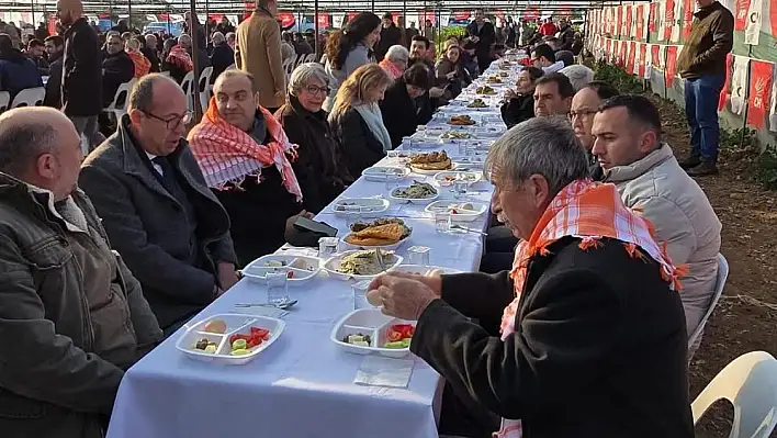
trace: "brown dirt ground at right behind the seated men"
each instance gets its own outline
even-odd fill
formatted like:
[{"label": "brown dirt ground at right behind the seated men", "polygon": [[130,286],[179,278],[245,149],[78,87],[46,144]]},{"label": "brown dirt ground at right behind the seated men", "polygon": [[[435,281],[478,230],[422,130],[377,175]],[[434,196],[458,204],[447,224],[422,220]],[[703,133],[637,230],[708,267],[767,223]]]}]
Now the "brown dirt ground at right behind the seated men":
[{"label": "brown dirt ground at right behind the seated men", "polygon": [[[688,153],[685,114],[654,97],[666,141],[675,156]],[[697,179],[723,223],[721,252],[730,266],[723,297],[690,363],[694,400],[734,358],[754,350],[777,356],[777,193],[752,178],[752,157],[721,151],[720,175]],[[717,404],[696,427],[696,436],[728,437],[733,409]],[[777,434],[773,434],[777,437]]]}]

